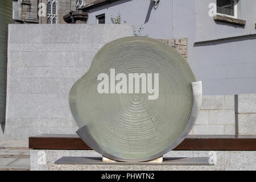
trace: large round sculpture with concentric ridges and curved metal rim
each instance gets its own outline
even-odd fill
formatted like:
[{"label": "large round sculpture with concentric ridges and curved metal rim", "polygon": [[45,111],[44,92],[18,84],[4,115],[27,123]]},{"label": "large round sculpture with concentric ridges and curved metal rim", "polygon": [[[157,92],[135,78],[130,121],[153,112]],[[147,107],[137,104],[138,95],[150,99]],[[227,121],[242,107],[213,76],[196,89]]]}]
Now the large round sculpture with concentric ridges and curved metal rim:
[{"label": "large round sculpture with concentric ridges and curved metal rim", "polygon": [[[148,92],[98,93],[100,73],[109,75],[109,87],[112,84],[110,69],[115,69],[115,76],[127,75],[127,82],[129,73],[159,73],[158,98],[149,100],[152,94]],[[152,79],[154,88],[154,76]],[[195,81],[187,61],[160,40],[114,40],[96,53],[88,72],[69,93],[69,106],[79,126],[77,134],[110,159],[141,162],[158,158],[192,129],[201,105],[201,82],[195,84],[195,94]]]}]

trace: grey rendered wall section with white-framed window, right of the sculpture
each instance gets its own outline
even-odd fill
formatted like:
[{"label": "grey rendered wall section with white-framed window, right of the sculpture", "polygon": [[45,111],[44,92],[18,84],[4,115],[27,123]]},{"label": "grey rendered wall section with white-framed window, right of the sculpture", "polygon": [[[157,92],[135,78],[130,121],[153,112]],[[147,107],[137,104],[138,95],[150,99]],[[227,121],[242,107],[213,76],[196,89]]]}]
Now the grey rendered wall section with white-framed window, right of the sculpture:
[{"label": "grey rendered wall section with white-framed window, right of the sculpture", "polygon": [[196,1],[196,35],[192,55],[188,53],[204,93],[256,93],[256,1],[238,1],[238,18],[246,20],[245,27],[214,22],[208,15],[210,2]]}]

